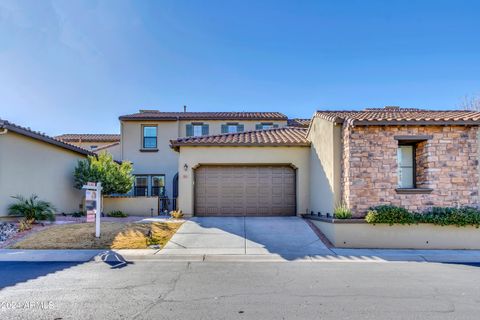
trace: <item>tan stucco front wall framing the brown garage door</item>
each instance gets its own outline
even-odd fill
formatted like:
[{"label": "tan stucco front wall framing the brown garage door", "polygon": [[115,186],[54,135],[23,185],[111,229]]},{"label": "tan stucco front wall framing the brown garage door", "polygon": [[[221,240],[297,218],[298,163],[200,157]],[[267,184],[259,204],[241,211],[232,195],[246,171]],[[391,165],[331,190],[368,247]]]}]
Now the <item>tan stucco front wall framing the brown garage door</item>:
[{"label": "tan stucco front wall framing the brown garage door", "polygon": [[[181,147],[178,161],[178,207],[185,215],[194,211],[194,168],[201,164],[292,164],[297,168],[297,213],[309,206],[308,147]],[[184,165],[188,170],[184,170]]]}]

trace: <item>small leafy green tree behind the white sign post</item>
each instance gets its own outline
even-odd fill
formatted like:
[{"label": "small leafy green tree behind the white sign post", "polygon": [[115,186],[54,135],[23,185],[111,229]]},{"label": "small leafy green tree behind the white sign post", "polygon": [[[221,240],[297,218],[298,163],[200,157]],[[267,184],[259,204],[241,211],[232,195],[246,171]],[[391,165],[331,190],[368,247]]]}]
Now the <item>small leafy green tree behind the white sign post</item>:
[{"label": "small leafy green tree behind the white sign post", "polygon": [[101,182],[104,195],[127,193],[133,187],[132,164],[128,161],[119,164],[106,152],[78,161],[74,178],[77,189],[87,182]]}]

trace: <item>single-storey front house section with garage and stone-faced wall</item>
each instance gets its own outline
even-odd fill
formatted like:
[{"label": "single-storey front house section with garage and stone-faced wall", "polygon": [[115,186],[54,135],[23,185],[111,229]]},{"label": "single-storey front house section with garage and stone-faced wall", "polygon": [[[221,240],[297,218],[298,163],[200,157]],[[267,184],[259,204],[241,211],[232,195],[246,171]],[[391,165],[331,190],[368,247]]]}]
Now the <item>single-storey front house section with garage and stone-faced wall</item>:
[{"label": "single-storey front house section with garage and stone-faced wall", "polygon": [[[286,127],[172,139],[187,215],[333,213],[478,205],[480,113],[318,111]],[[136,163],[138,164],[138,162]]]}]

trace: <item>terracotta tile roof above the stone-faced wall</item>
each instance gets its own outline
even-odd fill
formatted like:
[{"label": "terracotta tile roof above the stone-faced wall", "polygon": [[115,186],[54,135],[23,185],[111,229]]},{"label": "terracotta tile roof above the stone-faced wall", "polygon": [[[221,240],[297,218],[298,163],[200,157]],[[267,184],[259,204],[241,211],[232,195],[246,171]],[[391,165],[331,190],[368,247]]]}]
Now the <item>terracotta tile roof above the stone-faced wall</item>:
[{"label": "terracotta tile roof above the stone-faced wall", "polygon": [[480,125],[480,112],[385,107],[364,111],[317,111],[315,117],[350,125]]}]

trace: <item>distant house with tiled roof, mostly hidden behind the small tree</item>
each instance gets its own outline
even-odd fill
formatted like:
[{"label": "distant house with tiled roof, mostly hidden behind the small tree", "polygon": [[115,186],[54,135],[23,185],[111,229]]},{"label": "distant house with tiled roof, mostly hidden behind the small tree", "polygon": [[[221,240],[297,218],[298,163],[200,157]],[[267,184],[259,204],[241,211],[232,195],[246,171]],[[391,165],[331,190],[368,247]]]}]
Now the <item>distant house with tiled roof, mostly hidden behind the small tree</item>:
[{"label": "distant house with tiled roof, mostly hidden behind the small tree", "polygon": [[67,133],[56,136],[55,139],[90,151],[120,143],[119,134]]}]

